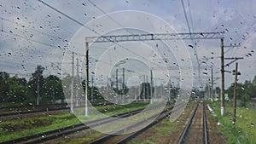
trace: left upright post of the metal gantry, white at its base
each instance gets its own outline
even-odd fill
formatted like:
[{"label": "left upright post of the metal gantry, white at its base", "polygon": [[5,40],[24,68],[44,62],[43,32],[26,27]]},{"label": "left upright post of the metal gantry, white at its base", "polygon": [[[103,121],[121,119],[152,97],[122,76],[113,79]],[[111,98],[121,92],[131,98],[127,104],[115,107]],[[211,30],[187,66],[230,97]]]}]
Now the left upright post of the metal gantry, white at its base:
[{"label": "left upright post of the metal gantry, white at its base", "polygon": [[88,86],[89,86],[89,43],[85,42],[85,117],[89,117],[88,112]]}]

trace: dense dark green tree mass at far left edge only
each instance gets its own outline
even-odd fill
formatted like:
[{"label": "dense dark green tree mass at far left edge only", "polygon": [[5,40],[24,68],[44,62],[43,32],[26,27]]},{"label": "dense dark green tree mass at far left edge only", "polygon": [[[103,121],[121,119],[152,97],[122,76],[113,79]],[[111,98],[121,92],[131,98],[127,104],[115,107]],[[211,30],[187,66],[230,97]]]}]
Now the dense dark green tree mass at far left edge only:
[{"label": "dense dark green tree mass at far left edge only", "polygon": [[49,75],[43,77],[44,67],[37,66],[32,77],[18,78],[17,75],[10,77],[7,72],[0,72],[0,102],[1,103],[23,103],[36,105],[40,95],[42,104],[52,104],[55,100],[64,100],[61,79]]}]

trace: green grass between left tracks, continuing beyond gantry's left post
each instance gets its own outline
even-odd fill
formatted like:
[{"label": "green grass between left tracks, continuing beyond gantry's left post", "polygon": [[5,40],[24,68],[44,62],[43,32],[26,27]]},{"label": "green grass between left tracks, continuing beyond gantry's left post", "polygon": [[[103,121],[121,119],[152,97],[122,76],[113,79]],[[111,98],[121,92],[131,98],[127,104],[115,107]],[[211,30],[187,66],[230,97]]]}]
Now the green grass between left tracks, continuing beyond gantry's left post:
[{"label": "green grass between left tracks, continuing beyond gantry's left post", "polygon": [[[147,107],[148,104],[134,103],[129,106],[103,106],[97,107],[99,111],[104,111],[107,115],[113,116],[122,112],[130,112],[136,109]],[[94,120],[96,116],[91,116],[86,121]],[[10,141],[26,135],[34,135],[49,130],[56,130],[62,127],[81,123],[72,113],[59,115],[42,115],[37,118],[23,118],[0,123],[0,142]]]}]

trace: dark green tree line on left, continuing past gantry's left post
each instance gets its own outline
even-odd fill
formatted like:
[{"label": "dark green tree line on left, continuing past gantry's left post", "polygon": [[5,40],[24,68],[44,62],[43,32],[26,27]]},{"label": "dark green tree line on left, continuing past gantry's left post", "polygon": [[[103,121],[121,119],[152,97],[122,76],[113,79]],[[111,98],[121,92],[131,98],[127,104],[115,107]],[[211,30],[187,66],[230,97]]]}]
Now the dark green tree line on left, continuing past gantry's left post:
[{"label": "dark green tree line on left, continuing past gantry's left post", "polygon": [[[58,101],[58,103],[67,103],[64,92],[67,99],[69,99],[70,97],[68,96],[71,95],[72,77],[67,75],[61,80],[61,78],[55,75],[49,75],[44,78],[43,72],[44,67],[37,66],[35,72],[32,73],[32,77],[28,80],[26,80],[26,78],[18,78],[17,75],[10,77],[9,73],[0,72],[0,106],[48,105],[55,104],[56,101]],[[76,80],[77,78],[74,78],[73,95],[75,96],[75,84],[79,83]],[[82,89],[85,89],[84,80],[81,84]],[[63,87],[65,89],[63,89]],[[88,98],[92,103],[95,101],[104,101],[96,87],[92,89],[89,86],[88,91]],[[84,96],[79,94],[79,97],[75,97],[74,99],[79,99],[79,102],[83,102]]]}]

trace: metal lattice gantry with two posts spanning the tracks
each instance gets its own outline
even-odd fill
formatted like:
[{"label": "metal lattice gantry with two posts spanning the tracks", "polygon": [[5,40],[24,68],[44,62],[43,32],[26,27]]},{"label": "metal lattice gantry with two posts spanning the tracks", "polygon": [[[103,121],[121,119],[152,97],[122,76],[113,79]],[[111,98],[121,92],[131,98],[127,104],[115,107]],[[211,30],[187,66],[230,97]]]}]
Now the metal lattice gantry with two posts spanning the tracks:
[{"label": "metal lattice gantry with two posts spanning the tracks", "polygon": [[[119,43],[127,41],[154,40],[189,40],[189,39],[220,39],[221,49],[221,114],[224,115],[224,32],[189,32],[189,33],[143,33],[130,35],[113,35],[85,37],[85,100],[89,82],[89,43]],[[200,73],[200,72],[199,72]],[[88,116],[87,101],[85,101],[85,116]]]}]

